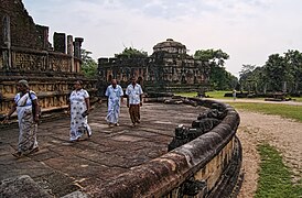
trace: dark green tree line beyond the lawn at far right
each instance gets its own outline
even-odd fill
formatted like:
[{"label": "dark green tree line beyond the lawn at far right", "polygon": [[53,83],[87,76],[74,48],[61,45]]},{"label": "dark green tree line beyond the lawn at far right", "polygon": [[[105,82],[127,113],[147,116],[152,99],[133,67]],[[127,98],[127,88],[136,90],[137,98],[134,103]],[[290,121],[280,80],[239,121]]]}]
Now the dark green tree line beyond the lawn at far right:
[{"label": "dark green tree line beyond the lawn at far right", "polygon": [[287,92],[300,95],[302,90],[302,53],[291,51],[272,54],[263,66],[242,65],[239,73],[241,90],[255,94]]}]

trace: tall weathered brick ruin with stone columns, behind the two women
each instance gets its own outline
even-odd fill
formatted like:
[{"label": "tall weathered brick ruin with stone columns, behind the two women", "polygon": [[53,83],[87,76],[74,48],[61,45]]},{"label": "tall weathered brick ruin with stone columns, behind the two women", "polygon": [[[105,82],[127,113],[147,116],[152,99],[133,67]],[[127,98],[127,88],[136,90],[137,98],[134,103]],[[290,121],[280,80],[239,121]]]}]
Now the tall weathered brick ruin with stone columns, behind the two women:
[{"label": "tall weathered brick ruin with stone columns, behind the two women", "polygon": [[52,46],[48,26],[35,24],[21,0],[1,0],[0,19],[0,118],[9,111],[20,79],[29,80],[43,112],[67,107],[75,79],[96,92],[95,81],[80,73],[82,37],[54,33]]}]

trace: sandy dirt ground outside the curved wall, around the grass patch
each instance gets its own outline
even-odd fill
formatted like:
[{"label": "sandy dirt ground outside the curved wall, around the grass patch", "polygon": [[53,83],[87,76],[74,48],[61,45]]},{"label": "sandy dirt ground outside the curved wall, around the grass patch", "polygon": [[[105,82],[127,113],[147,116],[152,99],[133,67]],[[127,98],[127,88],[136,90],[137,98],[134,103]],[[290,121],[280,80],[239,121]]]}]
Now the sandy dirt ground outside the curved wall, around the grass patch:
[{"label": "sandy dirt ground outside the curved wall, around the grass patch", "polygon": [[283,157],[283,162],[294,173],[293,182],[302,176],[302,123],[283,119],[279,116],[267,116],[248,111],[238,111],[240,125],[237,135],[244,148],[242,168],[245,179],[239,198],[254,197],[257,189],[260,156],[257,145],[269,143]]}]

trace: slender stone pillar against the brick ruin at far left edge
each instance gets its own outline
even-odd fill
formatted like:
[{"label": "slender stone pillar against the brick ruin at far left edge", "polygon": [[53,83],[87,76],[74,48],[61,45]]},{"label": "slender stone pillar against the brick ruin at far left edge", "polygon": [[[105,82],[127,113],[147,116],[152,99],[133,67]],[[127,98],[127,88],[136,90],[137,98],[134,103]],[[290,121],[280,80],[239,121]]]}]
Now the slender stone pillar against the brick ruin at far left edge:
[{"label": "slender stone pillar against the brick ruin at far left edge", "polygon": [[3,44],[6,50],[2,52],[3,56],[3,67],[11,68],[11,28],[10,28],[10,16],[3,16]]}]

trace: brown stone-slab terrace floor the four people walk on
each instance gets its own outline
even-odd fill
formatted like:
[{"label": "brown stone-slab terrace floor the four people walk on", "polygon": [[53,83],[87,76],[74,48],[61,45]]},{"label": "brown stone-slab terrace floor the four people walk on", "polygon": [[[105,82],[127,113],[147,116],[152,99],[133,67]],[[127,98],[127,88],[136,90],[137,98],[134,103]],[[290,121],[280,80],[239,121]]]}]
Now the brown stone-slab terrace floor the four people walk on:
[{"label": "brown stone-slab terrace floor the four people walk on", "polygon": [[141,123],[132,128],[125,103],[120,127],[109,128],[107,107],[99,105],[89,114],[93,136],[68,142],[69,118],[39,125],[40,151],[14,158],[19,129],[0,131],[0,180],[29,175],[55,197],[62,197],[98,182],[103,184],[119,174],[168,152],[168,144],[179,124],[191,125],[203,107],[144,103]]}]

